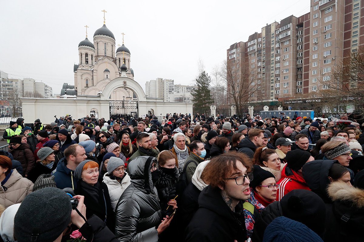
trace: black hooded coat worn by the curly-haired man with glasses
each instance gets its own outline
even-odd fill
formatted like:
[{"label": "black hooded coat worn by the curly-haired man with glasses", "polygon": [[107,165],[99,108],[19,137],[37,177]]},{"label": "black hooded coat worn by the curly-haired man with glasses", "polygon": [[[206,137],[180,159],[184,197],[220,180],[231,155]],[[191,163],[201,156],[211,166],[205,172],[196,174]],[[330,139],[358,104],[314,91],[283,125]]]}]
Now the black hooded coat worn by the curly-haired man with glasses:
[{"label": "black hooded coat worn by the curly-haired man with glasses", "polygon": [[246,241],[242,202],[233,212],[222,199],[220,191],[210,186],[202,190],[198,198],[199,208],[186,228],[186,242]]}]

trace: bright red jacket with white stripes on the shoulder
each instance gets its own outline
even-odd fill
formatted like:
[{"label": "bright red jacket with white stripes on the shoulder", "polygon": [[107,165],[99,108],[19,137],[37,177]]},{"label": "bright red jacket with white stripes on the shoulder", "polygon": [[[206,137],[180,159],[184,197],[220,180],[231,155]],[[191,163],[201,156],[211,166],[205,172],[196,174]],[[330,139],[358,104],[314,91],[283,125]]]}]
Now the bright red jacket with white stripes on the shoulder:
[{"label": "bright red jacket with white stripes on the shoulder", "polygon": [[282,197],[294,189],[310,190],[303,177],[297,174],[286,165],[282,170],[282,177],[277,182],[280,188],[277,190],[277,201],[281,201]]}]

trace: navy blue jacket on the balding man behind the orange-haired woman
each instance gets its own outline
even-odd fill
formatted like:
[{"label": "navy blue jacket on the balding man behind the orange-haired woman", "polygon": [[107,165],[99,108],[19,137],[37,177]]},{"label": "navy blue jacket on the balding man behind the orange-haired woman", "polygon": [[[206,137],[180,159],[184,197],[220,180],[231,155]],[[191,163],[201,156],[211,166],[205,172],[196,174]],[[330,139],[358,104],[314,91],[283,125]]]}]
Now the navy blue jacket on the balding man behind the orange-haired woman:
[{"label": "navy blue jacket on the balding man behind the orange-haired woman", "polygon": [[77,189],[77,182],[73,174],[75,171],[68,169],[66,167],[66,157],[62,158],[57,165],[57,168],[52,171],[52,175],[54,175],[54,181],[59,189],[63,189],[66,187],[70,187],[74,190]]}]

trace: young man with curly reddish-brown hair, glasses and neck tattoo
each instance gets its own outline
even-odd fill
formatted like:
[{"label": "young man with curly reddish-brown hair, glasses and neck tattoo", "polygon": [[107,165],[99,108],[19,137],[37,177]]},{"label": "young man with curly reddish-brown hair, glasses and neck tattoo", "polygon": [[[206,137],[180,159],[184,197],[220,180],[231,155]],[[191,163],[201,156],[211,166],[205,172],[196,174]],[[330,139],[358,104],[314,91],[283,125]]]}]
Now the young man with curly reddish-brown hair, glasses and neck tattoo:
[{"label": "young man with curly reddish-brown hair, glasses and neck tattoo", "polygon": [[244,200],[250,198],[251,163],[243,153],[214,157],[201,179],[210,184],[202,190],[185,231],[185,241],[246,241]]}]

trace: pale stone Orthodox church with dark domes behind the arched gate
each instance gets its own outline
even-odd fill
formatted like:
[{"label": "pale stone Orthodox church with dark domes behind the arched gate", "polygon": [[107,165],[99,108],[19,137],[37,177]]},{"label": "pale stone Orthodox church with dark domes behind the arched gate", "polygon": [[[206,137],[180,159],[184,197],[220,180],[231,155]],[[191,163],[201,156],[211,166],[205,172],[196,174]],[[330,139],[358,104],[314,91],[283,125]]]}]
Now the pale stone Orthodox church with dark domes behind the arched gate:
[{"label": "pale stone Orthodox church with dark domes behind the arched gate", "polygon": [[[87,28],[86,28],[87,29]],[[74,65],[76,95],[98,95],[111,80],[128,77],[134,80],[130,50],[124,45],[116,49],[114,34],[104,25],[95,31],[93,43],[86,38],[78,44],[79,64]],[[129,89],[112,91],[110,100],[135,98]]]}]

